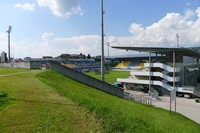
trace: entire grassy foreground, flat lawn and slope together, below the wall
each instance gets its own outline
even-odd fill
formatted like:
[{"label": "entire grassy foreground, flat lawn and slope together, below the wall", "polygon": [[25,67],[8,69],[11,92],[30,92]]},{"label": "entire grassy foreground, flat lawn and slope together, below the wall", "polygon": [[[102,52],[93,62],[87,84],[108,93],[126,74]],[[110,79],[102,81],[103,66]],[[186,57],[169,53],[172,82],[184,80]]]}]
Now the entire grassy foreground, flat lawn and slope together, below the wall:
[{"label": "entire grassy foreground, flat lawn and slope together, below the wall", "polygon": [[111,96],[51,70],[0,77],[0,92],[8,94],[8,103],[0,104],[0,132],[200,131],[180,114]]}]

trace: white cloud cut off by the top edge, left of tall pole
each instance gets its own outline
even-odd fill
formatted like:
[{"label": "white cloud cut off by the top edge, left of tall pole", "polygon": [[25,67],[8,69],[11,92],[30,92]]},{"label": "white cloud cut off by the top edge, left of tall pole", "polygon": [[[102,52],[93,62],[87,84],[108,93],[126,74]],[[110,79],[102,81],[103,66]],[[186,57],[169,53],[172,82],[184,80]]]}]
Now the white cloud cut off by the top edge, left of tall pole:
[{"label": "white cloud cut off by the top edge, left of tall pole", "polygon": [[37,0],[39,6],[49,7],[56,16],[82,15],[80,0]]}]

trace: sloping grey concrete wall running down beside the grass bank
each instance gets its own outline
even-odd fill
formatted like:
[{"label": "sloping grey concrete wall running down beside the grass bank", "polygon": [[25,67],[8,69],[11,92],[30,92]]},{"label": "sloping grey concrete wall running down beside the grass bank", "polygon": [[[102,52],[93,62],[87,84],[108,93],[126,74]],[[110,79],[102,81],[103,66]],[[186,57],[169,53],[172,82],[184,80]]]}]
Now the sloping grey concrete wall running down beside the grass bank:
[{"label": "sloping grey concrete wall running down beside the grass bank", "polygon": [[84,83],[88,86],[94,87],[98,90],[107,92],[109,94],[118,96],[120,98],[124,97],[124,90],[118,87],[115,87],[111,84],[108,84],[106,82],[102,82],[96,78],[90,77],[84,73],[78,72],[76,70],[67,68],[65,66],[62,66],[59,62],[56,61],[49,61],[49,68],[64,75],[67,76],[73,80],[76,80],[78,82]]}]

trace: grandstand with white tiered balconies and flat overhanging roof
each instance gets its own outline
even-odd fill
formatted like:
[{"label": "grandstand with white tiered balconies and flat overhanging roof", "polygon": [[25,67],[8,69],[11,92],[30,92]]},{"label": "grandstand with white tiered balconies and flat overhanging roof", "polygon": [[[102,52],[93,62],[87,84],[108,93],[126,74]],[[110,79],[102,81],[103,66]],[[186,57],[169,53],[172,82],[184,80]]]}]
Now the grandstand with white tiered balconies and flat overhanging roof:
[{"label": "grandstand with white tiered balconies and flat overhanging roof", "polygon": [[[175,89],[177,95],[200,96],[200,48],[112,48],[149,53],[149,56],[119,59],[123,64],[118,64],[115,70],[130,71],[129,78],[117,79],[125,89],[142,85],[159,94],[169,94]],[[152,53],[156,56],[151,56]]]}]

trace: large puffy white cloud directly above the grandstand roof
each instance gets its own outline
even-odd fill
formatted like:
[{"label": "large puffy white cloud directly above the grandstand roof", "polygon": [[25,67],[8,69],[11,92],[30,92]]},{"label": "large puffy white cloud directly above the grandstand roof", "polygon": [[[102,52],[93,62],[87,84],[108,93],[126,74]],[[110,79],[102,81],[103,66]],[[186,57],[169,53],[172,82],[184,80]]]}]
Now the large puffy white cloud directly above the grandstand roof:
[{"label": "large puffy white cloud directly above the grandstand roof", "polygon": [[[194,17],[197,19],[194,20]],[[142,27],[141,24],[131,24],[128,46],[175,47],[176,34],[180,37],[181,47],[199,46],[200,44],[200,7],[196,13],[186,10],[184,15],[168,13],[160,21]],[[123,43],[124,44],[124,43]]]}]

